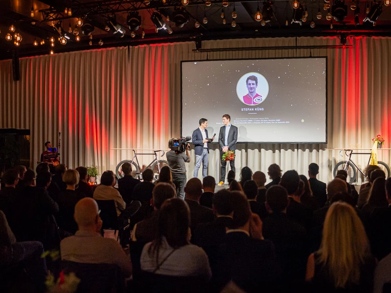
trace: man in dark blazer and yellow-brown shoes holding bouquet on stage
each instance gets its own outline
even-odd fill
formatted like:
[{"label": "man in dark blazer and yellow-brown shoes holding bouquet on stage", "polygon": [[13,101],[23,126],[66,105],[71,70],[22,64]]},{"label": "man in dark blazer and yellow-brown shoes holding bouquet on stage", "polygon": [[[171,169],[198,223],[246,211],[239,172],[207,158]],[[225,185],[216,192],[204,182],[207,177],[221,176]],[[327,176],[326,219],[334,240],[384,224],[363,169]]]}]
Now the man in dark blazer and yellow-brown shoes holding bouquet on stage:
[{"label": "man in dark blazer and yellow-brown shoes holding bouquet on stage", "polygon": [[[224,152],[228,150],[236,150],[236,142],[238,140],[238,127],[231,125],[231,116],[228,114],[223,115],[224,126],[220,127],[220,133],[218,134],[218,143],[220,145],[220,161],[221,161],[221,175],[220,183],[218,186],[224,185],[225,181],[225,168],[227,162],[221,160]],[[235,159],[229,162],[231,170],[235,172]]]}]

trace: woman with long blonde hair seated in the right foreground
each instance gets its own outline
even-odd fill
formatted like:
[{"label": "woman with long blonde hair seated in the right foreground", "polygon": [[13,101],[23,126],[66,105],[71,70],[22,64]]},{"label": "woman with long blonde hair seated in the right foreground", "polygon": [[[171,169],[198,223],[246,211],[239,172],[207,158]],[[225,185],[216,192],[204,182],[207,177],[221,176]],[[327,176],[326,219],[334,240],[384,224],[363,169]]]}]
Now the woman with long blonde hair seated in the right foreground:
[{"label": "woman with long blonde hair seated in the right foreground", "polygon": [[316,292],[372,292],[375,264],[354,209],[347,203],[333,203],[327,211],[321,247],[308,257],[305,280]]}]

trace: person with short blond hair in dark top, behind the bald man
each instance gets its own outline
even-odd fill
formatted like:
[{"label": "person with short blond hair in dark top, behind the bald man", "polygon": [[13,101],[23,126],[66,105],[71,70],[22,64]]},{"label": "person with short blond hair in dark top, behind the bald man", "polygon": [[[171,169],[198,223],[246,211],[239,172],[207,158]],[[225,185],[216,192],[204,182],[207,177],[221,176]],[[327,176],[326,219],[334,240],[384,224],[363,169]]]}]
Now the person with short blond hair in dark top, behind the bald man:
[{"label": "person with short blond hair in dark top, behind the bald man", "polygon": [[79,200],[85,197],[84,193],[80,194],[75,191],[75,186],[79,182],[79,173],[74,169],[67,169],[63,175],[63,181],[66,189],[60,191],[58,196],[59,213],[57,223],[60,228],[74,234],[77,231],[77,224],[73,217],[75,206]]}]

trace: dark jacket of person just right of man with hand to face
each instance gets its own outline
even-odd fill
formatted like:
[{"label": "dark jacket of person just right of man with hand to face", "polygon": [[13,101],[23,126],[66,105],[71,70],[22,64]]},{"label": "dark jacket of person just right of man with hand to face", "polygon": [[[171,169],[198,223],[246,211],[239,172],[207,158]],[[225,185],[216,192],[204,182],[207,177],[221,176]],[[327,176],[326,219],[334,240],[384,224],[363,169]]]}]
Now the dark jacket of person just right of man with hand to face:
[{"label": "dark jacket of person just right of man with hand to face", "polygon": [[273,212],[263,220],[263,237],[270,239],[283,271],[282,280],[304,280],[308,249],[307,231],[285,213]]}]

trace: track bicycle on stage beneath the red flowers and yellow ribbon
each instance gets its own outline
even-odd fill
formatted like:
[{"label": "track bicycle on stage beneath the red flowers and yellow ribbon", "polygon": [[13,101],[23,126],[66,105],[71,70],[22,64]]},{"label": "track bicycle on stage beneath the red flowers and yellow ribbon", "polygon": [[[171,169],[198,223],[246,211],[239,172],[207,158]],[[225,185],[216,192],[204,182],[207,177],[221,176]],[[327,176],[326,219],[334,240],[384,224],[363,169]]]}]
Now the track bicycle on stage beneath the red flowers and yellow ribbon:
[{"label": "track bicycle on stage beneath the red flowers and yellow ribbon", "polygon": [[[333,176],[335,177],[337,175],[338,170],[345,170],[348,172],[347,181],[349,182],[349,184],[352,184],[353,182],[355,182],[356,177],[357,177],[357,170],[359,170],[361,172],[361,174],[363,174],[363,176],[365,177],[365,173],[363,172],[363,170],[361,170],[361,168],[358,167],[357,164],[354,163],[353,160],[351,159],[351,155],[353,154],[353,150],[341,149],[339,151],[339,155],[341,157],[343,156],[341,154],[342,151],[345,151],[345,154],[348,156],[349,159],[347,161],[338,162],[335,165],[334,170],[333,170]],[[355,155],[369,155],[369,161],[368,161],[368,165],[367,165],[367,166],[369,166],[371,153],[354,153],[354,154]],[[380,169],[382,169],[384,171],[384,173],[386,173],[386,179],[390,178],[390,167],[386,163],[381,162],[381,161],[377,161],[377,166],[380,167]]]}]

